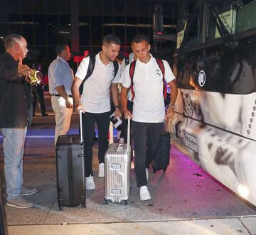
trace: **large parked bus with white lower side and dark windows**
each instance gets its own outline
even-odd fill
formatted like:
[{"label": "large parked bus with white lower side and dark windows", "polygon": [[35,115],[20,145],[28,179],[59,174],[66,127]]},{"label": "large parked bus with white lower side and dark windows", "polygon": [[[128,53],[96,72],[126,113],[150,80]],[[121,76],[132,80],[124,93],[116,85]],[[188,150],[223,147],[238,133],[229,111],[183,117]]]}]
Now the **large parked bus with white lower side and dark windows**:
[{"label": "large parked bus with white lower side and dark windows", "polygon": [[256,205],[256,1],[178,1],[171,141]]}]

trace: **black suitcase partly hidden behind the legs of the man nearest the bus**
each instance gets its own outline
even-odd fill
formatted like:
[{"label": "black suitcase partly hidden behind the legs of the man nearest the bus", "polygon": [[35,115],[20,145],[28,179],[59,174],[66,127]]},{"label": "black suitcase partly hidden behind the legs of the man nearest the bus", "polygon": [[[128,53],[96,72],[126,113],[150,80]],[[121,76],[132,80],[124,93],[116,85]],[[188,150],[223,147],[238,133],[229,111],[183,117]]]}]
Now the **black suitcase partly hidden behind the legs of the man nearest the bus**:
[{"label": "black suitcase partly hidden behind the legs of the man nearest the bus", "polygon": [[156,170],[166,171],[170,163],[171,136],[168,132],[161,133],[161,143],[152,162],[153,173]]}]

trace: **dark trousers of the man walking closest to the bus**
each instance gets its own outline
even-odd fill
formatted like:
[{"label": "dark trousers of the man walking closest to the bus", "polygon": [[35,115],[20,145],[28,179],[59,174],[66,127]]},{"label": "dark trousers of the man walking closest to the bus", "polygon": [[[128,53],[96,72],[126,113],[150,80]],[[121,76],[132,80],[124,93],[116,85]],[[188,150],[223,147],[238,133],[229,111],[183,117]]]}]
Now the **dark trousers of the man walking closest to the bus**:
[{"label": "dark trousers of the man walking closest to the bus", "polygon": [[132,121],[132,134],[135,153],[135,175],[137,186],[146,186],[146,168],[158,151],[163,123],[142,123]]}]

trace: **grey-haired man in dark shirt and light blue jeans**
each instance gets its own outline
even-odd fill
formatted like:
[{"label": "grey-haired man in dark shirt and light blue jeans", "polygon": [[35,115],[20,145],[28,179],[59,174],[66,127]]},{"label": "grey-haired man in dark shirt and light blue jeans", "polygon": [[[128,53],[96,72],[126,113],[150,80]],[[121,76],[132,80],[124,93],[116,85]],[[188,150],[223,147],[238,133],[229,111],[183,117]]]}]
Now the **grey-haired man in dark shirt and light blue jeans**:
[{"label": "grey-haired man in dark shirt and light blue jeans", "polygon": [[21,196],[37,192],[23,187],[22,160],[26,129],[32,116],[32,97],[25,78],[33,70],[22,64],[28,53],[25,38],[8,35],[4,47],[6,53],[0,55],[0,131],[4,137],[7,205],[23,209],[33,207],[33,203]]}]

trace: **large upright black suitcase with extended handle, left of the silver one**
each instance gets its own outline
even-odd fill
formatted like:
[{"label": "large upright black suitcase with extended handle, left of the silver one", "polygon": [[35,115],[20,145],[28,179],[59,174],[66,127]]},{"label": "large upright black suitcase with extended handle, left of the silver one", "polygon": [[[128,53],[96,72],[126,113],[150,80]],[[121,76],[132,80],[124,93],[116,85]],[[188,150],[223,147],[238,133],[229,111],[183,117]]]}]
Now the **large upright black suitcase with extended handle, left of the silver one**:
[{"label": "large upright black suitcase with extended handle, left of the silver one", "polygon": [[[81,126],[80,114],[80,126]],[[85,207],[85,159],[80,135],[58,137],[55,148],[58,207]]]}]

